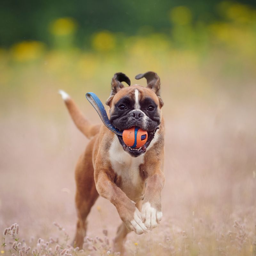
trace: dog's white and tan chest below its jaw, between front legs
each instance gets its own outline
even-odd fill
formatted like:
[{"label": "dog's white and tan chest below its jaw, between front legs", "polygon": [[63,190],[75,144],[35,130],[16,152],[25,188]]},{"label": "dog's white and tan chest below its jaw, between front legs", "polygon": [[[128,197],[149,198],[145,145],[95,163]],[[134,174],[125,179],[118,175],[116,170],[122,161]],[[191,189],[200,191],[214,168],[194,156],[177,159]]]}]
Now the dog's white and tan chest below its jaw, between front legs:
[{"label": "dog's white and tan chest below its jaw, between front legs", "polygon": [[144,193],[145,180],[140,172],[140,165],[144,162],[144,155],[132,157],[124,152],[118,139],[112,141],[109,158],[115,172],[116,185],[133,201],[139,201]]}]

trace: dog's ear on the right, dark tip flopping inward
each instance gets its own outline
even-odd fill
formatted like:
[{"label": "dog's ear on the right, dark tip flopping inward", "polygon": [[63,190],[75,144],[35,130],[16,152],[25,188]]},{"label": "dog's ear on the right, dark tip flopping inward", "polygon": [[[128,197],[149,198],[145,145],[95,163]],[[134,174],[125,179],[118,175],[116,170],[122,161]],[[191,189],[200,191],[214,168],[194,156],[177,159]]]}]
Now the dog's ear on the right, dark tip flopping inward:
[{"label": "dog's ear on the right, dark tip flopping inward", "polygon": [[147,83],[148,83],[147,87],[156,93],[156,95],[159,99],[160,107],[163,107],[164,102],[160,96],[160,85],[161,85],[160,77],[155,72],[148,71],[144,74],[139,74],[139,75],[135,76],[135,79],[138,80],[143,77],[145,77],[147,79]]}]

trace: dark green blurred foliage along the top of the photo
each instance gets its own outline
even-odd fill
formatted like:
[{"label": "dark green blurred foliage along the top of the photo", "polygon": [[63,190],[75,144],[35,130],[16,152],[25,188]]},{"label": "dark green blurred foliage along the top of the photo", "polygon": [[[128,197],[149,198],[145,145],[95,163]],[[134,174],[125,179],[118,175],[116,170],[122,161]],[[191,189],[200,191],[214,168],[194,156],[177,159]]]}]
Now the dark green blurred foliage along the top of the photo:
[{"label": "dark green blurred foliage along the top of the photo", "polygon": [[[256,5],[255,1],[247,0],[247,3]],[[209,24],[225,19],[217,8],[219,4],[220,1],[216,0],[2,1],[0,45],[6,47],[17,41],[36,40],[52,46],[55,38],[49,33],[51,23],[63,17],[75,21],[76,35],[72,41],[79,47],[90,48],[91,36],[102,30],[126,36],[151,33],[170,36],[171,29],[175,30],[176,25]],[[185,33],[189,37],[190,28],[179,30],[181,34]],[[180,35],[176,36],[179,43]]]}]

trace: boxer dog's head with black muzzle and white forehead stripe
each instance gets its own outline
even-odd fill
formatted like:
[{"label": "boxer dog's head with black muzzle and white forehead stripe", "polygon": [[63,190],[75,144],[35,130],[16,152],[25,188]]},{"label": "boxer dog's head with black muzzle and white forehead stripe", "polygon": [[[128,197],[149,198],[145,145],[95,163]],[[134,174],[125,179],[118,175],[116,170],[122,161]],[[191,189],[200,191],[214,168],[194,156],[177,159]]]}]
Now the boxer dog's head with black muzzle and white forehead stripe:
[{"label": "boxer dog's head with black muzzle and white forehead stripe", "polygon": [[148,132],[148,141],[139,149],[125,145],[122,136],[118,136],[124,151],[131,156],[140,156],[146,152],[156,127],[161,122],[160,109],[164,105],[160,97],[160,78],[155,72],[146,72],[135,76],[136,79],[145,77],[147,87],[132,85],[124,87],[122,82],[131,84],[130,79],[123,73],[116,73],[112,78],[112,90],[106,104],[110,107],[110,122],[123,131],[138,126]]}]

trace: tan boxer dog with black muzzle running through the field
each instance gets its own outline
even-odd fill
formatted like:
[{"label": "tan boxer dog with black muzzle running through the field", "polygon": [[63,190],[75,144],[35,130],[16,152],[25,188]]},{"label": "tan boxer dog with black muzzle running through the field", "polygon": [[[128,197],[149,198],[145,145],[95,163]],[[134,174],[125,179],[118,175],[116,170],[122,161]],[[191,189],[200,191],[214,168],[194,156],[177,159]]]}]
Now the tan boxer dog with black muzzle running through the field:
[{"label": "tan boxer dog with black muzzle running through the field", "polygon": [[[123,221],[114,239],[115,252],[123,253],[125,237],[130,231],[146,233],[162,219],[161,190],[165,180],[160,78],[151,71],[135,78],[142,77],[147,79],[147,87],[130,86],[126,75],[116,73],[106,101],[109,120],[116,128],[123,131],[138,126],[148,132],[148,141],[139,149],[126,146],[122,136],[104,124],[91,124],[69,95],[60,91],[76,126],[91,139],[75,171],[78,220],[74,243],[80,248],[86,233],[86,218],[99,195],[115,205]],[[122,82],[129,87],[124,87]]]}]

